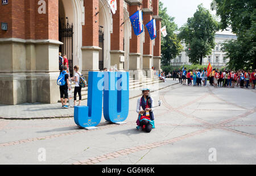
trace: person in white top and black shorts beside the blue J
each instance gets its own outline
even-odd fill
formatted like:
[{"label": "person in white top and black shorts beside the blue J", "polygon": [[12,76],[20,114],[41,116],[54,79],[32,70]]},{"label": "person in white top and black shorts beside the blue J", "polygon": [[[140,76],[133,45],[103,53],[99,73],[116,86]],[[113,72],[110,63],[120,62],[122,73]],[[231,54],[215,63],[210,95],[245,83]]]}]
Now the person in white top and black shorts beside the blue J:
[{"label": "person in white top and black shorts beside the blue J", "polygon": [[[79,85],[80,76],[81,76],[81,73],[79,72],[79,66],[75,65],[74,66],[74,71],[75,71],[75,77],[71,78],[75,82],[74,106],[76,106],[76,95],[77,95],[77,93],[79,94],[79,104],[78,104],[78,106],[81,106],[81,100],[82,100],[81,90],[82,90],[82,87]],[[74,107],[74,106],[72,106],[72,107]]]}]

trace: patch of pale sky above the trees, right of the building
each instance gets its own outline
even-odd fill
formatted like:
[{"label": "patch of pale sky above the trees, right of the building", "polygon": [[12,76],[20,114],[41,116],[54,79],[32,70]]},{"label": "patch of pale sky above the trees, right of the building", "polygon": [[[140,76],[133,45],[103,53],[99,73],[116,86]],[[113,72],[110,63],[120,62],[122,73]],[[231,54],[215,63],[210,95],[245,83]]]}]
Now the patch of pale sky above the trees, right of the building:
[{"label": "patch of pale sky above the trees, right of the building", "polygon": [[[168,15],[175,17],[175,23],[181,27],[196,12],[197,6],[203,3],[206,9],[210,9],[212,0],[160,0],[167,7]],[[211,14],[215,14],[210,10]]]}]

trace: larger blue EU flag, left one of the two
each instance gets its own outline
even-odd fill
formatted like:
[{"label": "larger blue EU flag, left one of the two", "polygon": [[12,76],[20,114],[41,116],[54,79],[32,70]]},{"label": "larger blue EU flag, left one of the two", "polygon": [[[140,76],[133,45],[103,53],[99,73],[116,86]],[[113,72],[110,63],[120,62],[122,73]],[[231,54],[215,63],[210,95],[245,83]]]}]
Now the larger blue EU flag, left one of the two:
[{"label": "larger blue EU flag, left one of the two", "polygon": [[135,35],[140,35],[143,32],[143,17],[142,11],[138,10],[133,15],[130,16],[131,25],[133,26],[133,31]]}]

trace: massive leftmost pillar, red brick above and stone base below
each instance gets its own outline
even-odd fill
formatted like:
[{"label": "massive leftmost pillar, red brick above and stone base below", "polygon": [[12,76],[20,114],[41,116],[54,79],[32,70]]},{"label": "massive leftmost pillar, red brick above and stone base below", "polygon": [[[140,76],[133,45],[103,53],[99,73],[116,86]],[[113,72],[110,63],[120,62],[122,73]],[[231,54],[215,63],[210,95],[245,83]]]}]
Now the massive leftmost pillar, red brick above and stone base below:
[{"label": "massive leftmost pillar, red brick above and stone base below", "polygon": [[[37,1],[36,1],[37,2]],[[0,6],[0,103],[56,103],[59,89],[59,1],[9,1]]]}]

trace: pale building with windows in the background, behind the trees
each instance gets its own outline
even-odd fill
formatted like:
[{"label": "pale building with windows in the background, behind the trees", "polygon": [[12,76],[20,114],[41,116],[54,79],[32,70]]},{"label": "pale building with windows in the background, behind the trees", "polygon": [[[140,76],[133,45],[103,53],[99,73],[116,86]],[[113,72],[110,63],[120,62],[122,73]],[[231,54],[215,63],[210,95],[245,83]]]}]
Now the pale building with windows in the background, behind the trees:
[{"label": "pale building with windows in the background, behind the trees", "polygon": [[[226,64],[229,62],[229,58],[226,56],[225,52],[221,51],[221,44],[224,43],[227,40],[236,40],[237,36],[229,31],[219,31],[215,34],[215,47],[212,49],[212,53],[208,55],[207,57],[203,58],[202,65],[208,65],[210,64],[213,66],[213,68],[221,68],[222,66],[226,66]],[[182,44],[185,48],[185,44]],[[182,51],[179,56],[177,56],[175,59],[171,60],[171,65],[180,67],[181,65],[192,65],[190,62],[189,57],[187,56],[187,53],[185,51]]]}]

